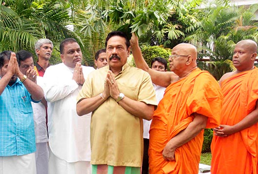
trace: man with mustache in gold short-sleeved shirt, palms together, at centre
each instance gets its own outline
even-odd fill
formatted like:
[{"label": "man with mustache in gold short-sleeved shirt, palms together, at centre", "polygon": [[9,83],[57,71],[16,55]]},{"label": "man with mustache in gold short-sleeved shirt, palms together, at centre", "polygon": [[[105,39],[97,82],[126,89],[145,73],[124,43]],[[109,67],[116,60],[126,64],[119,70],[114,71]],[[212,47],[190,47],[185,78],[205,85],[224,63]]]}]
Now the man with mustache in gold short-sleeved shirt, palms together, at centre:
[{"label": "man with mustache in gold short-sleeved shirt, palms together, at centre", "polygon": [[130,44],[122,32],[106,38],[109,65],[92,72],[77,97],[77,113],[92,112],[92,174],[140,174],[143,119],[156,105],[149,75],[130,67]]}]

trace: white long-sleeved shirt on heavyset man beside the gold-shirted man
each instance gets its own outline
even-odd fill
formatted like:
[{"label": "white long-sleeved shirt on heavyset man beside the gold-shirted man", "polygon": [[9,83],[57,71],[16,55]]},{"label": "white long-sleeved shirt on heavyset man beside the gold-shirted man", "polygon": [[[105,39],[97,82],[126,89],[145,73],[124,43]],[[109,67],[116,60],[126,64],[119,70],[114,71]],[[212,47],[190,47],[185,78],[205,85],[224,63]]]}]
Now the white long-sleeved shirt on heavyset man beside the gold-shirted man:
[{"label": "white long-sleeved shirt on heavyset man beside the gold-shirted man", "polygon": [[[84,78],[94,69],[82,66]],[[72,79],[74,68],[64,63],[49,67],[45,74],[48,102],[49,146],[56,157],[67,162],[90,161],[91,113],[78,116],[76,97],[81,89]]]}]

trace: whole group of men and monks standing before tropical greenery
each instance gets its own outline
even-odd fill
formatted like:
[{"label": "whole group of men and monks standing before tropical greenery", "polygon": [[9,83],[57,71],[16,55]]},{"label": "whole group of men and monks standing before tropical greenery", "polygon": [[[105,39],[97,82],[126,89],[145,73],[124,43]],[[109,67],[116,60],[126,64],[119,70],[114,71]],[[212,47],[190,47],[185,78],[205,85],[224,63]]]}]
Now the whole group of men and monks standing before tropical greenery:
[{"label": "whole group of men and monks standing before tropical greenery", "polygon": [[[95,66],[74,38],[0,53],[0,174],[198,174],[203,129],[213,128],[212,174],[258,174],[257,43],[234,49],[219,83],[197,48],[145,62],[138,38],[109,33]],[[132,53],[135,67],[127,64]],[[239,156],[241,153],[241,157]]]}]

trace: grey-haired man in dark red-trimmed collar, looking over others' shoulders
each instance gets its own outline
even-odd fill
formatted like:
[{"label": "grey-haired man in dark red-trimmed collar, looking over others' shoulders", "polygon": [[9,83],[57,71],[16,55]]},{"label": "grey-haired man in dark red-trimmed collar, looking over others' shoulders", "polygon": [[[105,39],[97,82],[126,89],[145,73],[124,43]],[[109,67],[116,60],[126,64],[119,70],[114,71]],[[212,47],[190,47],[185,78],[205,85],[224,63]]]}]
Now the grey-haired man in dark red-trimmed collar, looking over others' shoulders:
[{"label": "grey-haired man in dark red-trimmed collar, looking over others' shoulders", "polygon": [[52,55],[53,43],[49,39],[39,39],[35,43],[35,52],[37,55],[37,62],[34,70],[37,75],[43,77],[45,70],[50,66],[49,59]]}]

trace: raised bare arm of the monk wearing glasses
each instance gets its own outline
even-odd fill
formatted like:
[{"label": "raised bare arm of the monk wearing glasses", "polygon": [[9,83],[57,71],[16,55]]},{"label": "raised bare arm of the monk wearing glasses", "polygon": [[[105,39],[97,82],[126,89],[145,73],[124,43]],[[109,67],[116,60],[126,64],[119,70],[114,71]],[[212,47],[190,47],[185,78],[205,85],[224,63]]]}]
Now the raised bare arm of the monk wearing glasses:
[{"label": "raised bare arm of the monk wearing glasses", "polygon": [[174,78],[176,78],[176,75],[173,72],[161,72],[157,70],[151,70],[148,67],[139,47],[138,38],[134,33],[132,33],[132,37],[130,39],[130,47],[136,67],[147,71],[151,77],[152,83],[162,87],[167,87],[171,84]]}]

